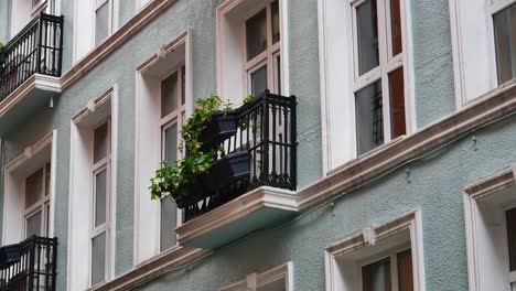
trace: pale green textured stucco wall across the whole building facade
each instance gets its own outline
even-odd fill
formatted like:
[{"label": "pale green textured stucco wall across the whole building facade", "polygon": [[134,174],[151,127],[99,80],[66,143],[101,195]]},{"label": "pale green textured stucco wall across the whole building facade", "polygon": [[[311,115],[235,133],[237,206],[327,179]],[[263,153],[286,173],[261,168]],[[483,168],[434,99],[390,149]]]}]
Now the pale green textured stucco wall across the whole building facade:
[{"label": "pale green textured stucco wall across the whole building facade", "polygon": [[[1,1],[1,0],[0,0]],[[6,0],[3,0],[6,1]],[[0,9],[2,8],[0,2]],[[69,122],[89,99],[118,86],[118,168],[116,193],[116,273],[131,269],[133,251],[135,68],[185,30],[192,33],[193,96],[216,93],[215,9],[222,0],[178,1],[88,75],[67,88],[54,108],[44,108],[7,137],[8,160],[57,130],[55,235],[60,238],[57,290],[65,290],[69,180]],[[120,9],[120,23],[133,14],[133,1]],[[299,185],[321,176],[321,127],[316,0],[289,1],[290,93],[298,96]],[[411,0],[415,90],[418,127],[454,110],[448,1]],[[0,11],[0,15],[1,15]],[[72,66],[73,1],[65,15],[63,68]],[[0,17],[1,22],[1,17]],[[1,31],[1,30],[0,30]],[[1,33],[1,32],[0,32]],[[1,37],[1,34],[0,34]],[[438,105],[438,106],[437,106]],[[419,208],[423,218],[427,290],[467,290],[462,187],[516,161],[516,126],[501,122],[381,181],[347,194],[335,208],[318,211],[281,229],[268,230],[212,257],[155,279],[142,290],[214,290],[292,260],[295,290],[323,290],[323,248]],[[23,130],[21,130],[23,129]],[[504,137],[501,139],[499,137]],[[2,197],[3,191],[0,191]],[[214,276],[216,274],[216,276]]]}]

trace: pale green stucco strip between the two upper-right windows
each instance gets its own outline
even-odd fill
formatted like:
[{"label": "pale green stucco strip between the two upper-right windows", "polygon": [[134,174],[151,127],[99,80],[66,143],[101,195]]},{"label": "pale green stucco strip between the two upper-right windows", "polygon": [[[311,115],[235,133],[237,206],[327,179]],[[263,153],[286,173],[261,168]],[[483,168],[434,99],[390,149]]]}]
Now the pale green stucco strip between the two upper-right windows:
[{"label": "pale green stucco strip between the two upper-right windows", "polygon": [[411,7],[416,127],[455,110],[448,0],[409,0]]}]

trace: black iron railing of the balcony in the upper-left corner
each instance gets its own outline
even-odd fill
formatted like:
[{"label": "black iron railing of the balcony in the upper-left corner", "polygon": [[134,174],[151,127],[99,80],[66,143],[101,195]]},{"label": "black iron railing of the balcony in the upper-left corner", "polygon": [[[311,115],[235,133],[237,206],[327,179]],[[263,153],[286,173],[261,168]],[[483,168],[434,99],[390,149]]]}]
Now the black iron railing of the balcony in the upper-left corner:
[{"label": "black iron railing of the balcony in the upper-left corner", "polygon": [[61,76],[63,17],[41,13],[0,53],[0,101],[34,74]]}]

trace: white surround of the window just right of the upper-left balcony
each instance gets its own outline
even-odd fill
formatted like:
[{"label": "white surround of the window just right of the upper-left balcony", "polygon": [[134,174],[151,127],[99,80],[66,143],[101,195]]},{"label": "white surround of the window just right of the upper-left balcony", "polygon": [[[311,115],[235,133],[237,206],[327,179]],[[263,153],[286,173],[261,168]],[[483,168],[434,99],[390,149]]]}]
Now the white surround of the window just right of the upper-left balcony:
[{"label": "white surround of the window just right of the upper-left balcony", "polygon": [[[95,45],[95,21],[96,11],[105,2],[109,1],[109,33],[110,35],[118,29],[119,0],[74,0],[74,36],[72,63],[78,63],[85,57]],[[104,40],[104,42],[106,42]],[[104,43],[101,42],[101,43]],[[101,44],[100,43],[100,44]],[[100,45],[99,44],[99,45]]]}]

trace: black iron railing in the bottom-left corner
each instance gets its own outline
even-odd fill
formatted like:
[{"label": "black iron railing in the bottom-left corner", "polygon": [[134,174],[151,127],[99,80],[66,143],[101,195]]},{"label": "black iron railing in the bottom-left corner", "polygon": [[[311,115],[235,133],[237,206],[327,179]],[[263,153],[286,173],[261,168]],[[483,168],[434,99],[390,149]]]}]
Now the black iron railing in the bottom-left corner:
[{"label": "black iron railing in the bottom-left corner", "polygon": [[55,290],[57,238],[33,236],[0,248],[0,291]]}]

